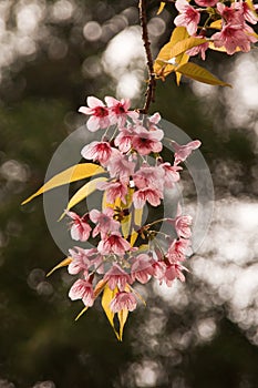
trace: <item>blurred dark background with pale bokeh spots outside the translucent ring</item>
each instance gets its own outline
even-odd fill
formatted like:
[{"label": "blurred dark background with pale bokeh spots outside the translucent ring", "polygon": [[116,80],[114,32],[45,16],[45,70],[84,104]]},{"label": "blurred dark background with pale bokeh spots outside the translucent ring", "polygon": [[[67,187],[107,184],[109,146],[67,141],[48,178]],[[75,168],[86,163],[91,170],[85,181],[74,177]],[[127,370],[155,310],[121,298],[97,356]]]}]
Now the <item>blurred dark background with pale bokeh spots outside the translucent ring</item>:
[{"label": "blurred dark background with pale bokeh spots outside the translucent ring", "polygon": [[[154,55],[171,34],[174,8],[148,1]],[[149,284],[147,307],[117,343],[101,312],[74,317],[73,279],[48,231],[42,198],[50,159],[85,123],[87,95],[143,104],[146,69],[136,0],[0,1],[0,387],[258,387],[258,52],[209,52],[205,67],[233,89],[173,76],[157,84],[164,119],[200,139],[215,212],[186,284]],[[200,63],[195,59],[196,63]],[[193,186],[187,174],[185,197]],[[141,287],[140,287],[141,288]]]}]

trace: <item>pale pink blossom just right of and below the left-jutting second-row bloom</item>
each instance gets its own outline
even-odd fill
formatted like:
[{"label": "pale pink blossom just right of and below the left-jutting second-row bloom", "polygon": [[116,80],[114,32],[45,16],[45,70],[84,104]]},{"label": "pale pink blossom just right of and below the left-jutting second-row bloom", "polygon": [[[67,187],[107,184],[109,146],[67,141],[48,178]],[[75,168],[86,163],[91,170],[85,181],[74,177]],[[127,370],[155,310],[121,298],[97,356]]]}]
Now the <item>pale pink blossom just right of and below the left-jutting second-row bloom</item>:
[{"label": "pale pink blossom just right of and below the left-jutting second-row bloom", "polygon": [[118,177],[123,182],[128,182],[130,176],[133,174],[135,163],[128,161],[127,157],[120,152],[110,160],[107,171],[111,177]]}]

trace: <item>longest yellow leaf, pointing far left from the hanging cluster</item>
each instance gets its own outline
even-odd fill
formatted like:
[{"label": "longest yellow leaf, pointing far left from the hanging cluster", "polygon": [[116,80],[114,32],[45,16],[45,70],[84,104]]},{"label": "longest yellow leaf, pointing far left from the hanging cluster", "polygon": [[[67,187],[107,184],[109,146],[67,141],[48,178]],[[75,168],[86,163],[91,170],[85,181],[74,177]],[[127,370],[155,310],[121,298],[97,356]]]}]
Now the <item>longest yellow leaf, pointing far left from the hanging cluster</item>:
[{"label": "longest yellow leaf, pointing far left from the hanging cluster", "polygon": [[101,174],[104,172],[104,169],[94,163],[82,163],[75,164],[68,170],[62,171],[58,175],[54,175],[50,181],[48,181],[42,187],[38,190],[34,194],[32,194],[29,198],[22,202],[22,205],[27,204],[35,196],[48,192],[58,186],[62,186],[64,184],[83,180],[85,177],[90,177],[92,175]]}]

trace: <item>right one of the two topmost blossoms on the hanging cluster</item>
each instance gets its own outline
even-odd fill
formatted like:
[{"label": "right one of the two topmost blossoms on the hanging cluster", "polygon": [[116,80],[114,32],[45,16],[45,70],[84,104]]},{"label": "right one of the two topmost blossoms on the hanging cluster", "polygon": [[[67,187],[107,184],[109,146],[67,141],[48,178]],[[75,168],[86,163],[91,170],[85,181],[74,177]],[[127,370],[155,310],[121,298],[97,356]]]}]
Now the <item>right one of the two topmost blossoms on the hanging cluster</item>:
[{"label": "right one of the two topmost blossoms on the hanging cluster", "polygon": [[112,96],[106,96],[105,102],[110,110],[110,120],[112,124],[118,124],[120,126],[123,126],[126,122],[127,116],[133,120],[137,119],[138,116],[137,112],[128,111],[131,102],[127,99],[117,101]]}]

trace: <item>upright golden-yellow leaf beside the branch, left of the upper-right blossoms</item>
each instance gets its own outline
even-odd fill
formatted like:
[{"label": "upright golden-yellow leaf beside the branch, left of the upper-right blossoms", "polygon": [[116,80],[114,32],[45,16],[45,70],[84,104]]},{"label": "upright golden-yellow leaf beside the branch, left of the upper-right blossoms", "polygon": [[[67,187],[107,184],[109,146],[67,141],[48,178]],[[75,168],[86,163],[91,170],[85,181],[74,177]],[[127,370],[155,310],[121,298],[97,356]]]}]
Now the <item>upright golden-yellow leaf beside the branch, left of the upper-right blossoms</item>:
[{"label": "upright golden-yellow leaf beside the branch, left of the upper-right blossoms", "polygon": [[[166,43],[159,51],[157,59],[154,62],[154,72],[157,78],[164,79],[173,71],[175,71],[176,65],[180,64],[184,54],[178,54],[173,57],[173,48],[176,43],[188,38],[189,34],[184,27],[176,27],[171,35],[171,40]],[[169,63],[168,61],[175,58],[175,63]]]}]

